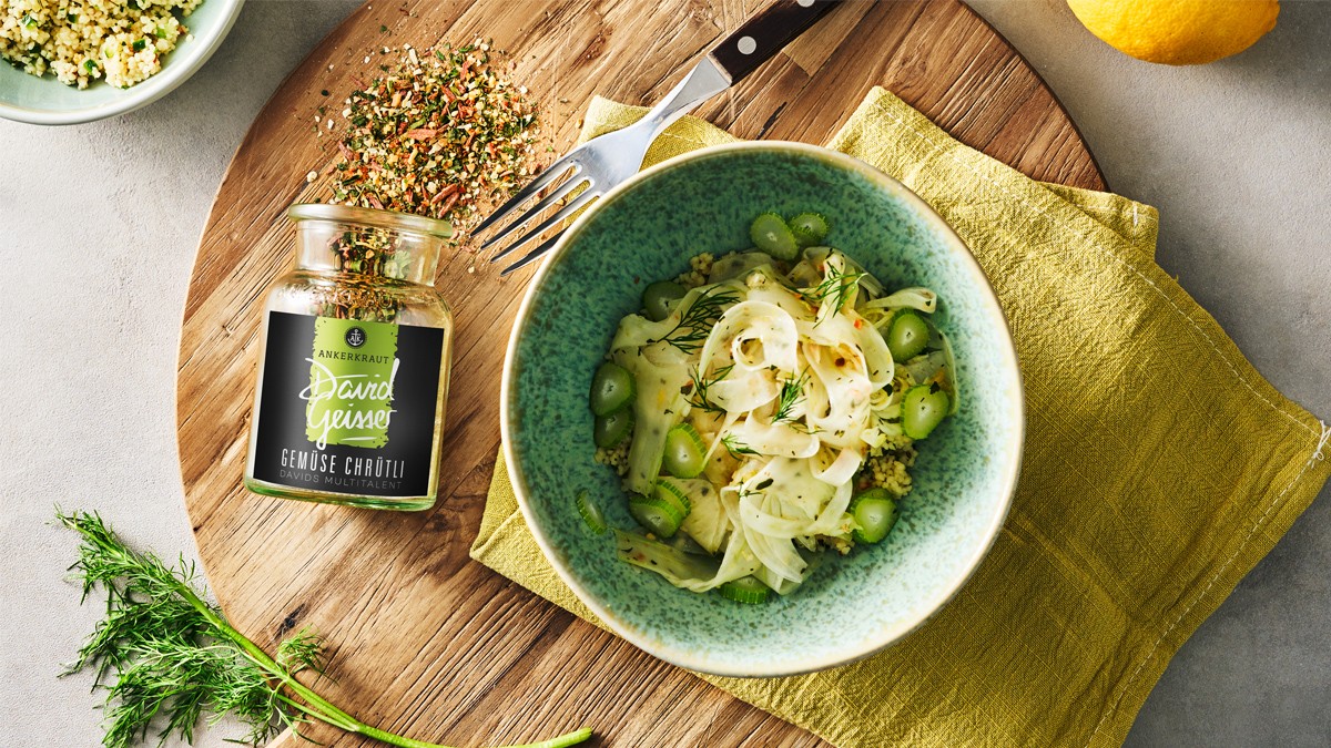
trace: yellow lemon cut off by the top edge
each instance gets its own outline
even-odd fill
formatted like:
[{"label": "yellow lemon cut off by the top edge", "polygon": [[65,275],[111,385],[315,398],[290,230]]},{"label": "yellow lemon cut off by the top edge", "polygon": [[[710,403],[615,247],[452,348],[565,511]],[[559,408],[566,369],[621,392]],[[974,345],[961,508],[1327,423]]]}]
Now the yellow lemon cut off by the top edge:
[{"label": "yellow lemon cut off by the top edge", "polygon": [[1275,28],[1279,0],[1067,0],[1091,33],[1147,63],[1199,65]]}]

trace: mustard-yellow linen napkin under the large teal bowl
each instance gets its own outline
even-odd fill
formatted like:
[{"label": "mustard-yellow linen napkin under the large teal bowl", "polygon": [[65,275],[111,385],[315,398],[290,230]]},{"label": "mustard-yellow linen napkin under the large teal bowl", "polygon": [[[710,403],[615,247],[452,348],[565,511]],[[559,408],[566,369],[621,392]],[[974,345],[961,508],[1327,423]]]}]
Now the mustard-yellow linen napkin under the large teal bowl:
[{"label": "mustard-yellow linen napkin under the large teal bowl", "polygon": [[[583,136],[640,114],[598,100]],[[727,140],[683,120],[648,162]],[[976,576],[897,646],[797,677],[705,677],[843,748],[1118,744],[1316,496],[1327,430],[1154,264],[1153,208],[1033,181],[882,89],[829,146],[933,205],[993,281],[1025,375],[1021,482]],[[502,455],[471,555],[592,620],[528,534]]]}]

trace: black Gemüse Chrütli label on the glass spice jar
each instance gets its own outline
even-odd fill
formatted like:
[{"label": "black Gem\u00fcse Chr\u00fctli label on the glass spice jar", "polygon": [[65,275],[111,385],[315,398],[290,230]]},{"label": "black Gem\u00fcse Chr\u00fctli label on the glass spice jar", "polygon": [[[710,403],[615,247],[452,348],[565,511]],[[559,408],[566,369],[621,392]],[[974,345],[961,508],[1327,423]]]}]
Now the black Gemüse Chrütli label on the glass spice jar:
[{"label": "black Gem\u00fcse Chr\u00fctli label on the glass spice jar", "polygon": [[430,487],[443,330],[272,311],[254,478],[361,496]]}]

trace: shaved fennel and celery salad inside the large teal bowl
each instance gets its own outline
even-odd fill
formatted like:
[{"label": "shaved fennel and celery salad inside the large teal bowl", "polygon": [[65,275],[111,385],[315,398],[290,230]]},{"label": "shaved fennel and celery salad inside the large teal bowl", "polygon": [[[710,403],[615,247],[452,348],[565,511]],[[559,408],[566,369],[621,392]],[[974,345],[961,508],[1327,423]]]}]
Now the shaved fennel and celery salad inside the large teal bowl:
[{"label": "shaved fennel and celery salad inside the large teal bowl", "polygon": [[[753,248],[692,258],[619,322],[588,403],[639,524],[615,531],[622,560],[756,604],[793,592],[812,554],[894,526],[914,441],[960,403],[956,363],[937,294],[888,293],[820,244],[828,230],[763,213]],[[576,502],[603,531],[599,504]]]}]

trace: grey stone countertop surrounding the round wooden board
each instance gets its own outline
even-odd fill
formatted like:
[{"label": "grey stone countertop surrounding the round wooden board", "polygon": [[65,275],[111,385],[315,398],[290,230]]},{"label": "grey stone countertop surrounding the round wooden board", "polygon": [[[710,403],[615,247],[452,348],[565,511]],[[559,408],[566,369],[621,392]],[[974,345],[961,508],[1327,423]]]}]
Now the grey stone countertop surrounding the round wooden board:
[{"label": "grey stone countertop surrounding the round wooden board", "polygon": [[[0,745],[92,747],[60,663],[98,615],[63,582],[57,502],[194,552],[174,438],[176,346],[222,172],[269,94],[353,0],[250,0],[157,104],[71,128],[0,121]],[[1117,192],[1161,209],[1159,262],[1276,387],[1331,415],[1331,4],[1286,0],[1246,53],[1127,59],[1062,0],[974,0],[1049,81]],[[1327,491],[1170,664],[1131,745],[1331,740]],[[209,731],[222,745],[237,731]]]}]

